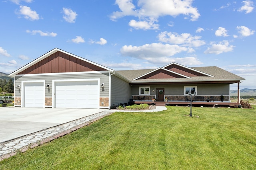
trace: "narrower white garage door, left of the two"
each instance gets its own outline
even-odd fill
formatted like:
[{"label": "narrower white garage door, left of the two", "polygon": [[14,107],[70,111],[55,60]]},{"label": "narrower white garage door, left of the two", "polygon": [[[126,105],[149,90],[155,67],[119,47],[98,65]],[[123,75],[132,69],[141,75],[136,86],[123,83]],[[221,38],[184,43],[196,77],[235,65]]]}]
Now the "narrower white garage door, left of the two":
[{"label": "narrower white garage door, left of the two", "polygon": [[24,107],[44,107],[44,83],[24,83]]}]

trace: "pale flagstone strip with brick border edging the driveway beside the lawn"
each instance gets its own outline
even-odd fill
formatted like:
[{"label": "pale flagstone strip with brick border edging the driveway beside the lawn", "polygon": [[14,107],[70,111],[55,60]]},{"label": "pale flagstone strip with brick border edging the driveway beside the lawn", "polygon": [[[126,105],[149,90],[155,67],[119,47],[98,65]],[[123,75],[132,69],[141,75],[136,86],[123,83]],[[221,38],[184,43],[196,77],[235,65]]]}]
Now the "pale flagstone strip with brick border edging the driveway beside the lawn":
[{"label": "pale flagstone strip with brick border edging the driveway beside the lawn", "polygon": [[68,135],[114,112],[103,111],[0,144],[0,161]]}]

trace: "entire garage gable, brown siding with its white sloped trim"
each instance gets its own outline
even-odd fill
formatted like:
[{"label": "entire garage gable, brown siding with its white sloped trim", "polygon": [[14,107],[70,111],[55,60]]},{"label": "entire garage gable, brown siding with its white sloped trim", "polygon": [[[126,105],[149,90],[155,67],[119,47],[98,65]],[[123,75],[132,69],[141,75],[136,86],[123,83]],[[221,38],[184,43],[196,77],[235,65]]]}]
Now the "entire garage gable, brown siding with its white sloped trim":
[{"label": "entire garage gable, brown siding with its white sloped trim", "polygon": [[9,76],[17,74],[44,74],[58,72],[110,71],[114,70],[55,48],[26,64]]}]

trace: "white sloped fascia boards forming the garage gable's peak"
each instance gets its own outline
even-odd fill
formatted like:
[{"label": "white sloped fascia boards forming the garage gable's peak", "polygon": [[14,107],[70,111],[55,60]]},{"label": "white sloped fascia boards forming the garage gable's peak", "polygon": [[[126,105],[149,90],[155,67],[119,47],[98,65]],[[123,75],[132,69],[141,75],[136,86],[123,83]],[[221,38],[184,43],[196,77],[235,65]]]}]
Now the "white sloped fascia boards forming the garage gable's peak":
[{"label": "white sloped fascia boards forming the garage gable's peak", "polygon": [[68,52],[63,51],[63,50],[61,50],[61,49],[55,48],[55,49],[49,51],[48,53],[42,55],[41,57],[38,57],[38,58],[35,59],[34,61],[32,61],[32,62],[26,64],[26,65],[23,66],[22,68],[19,68],[18,70],[12,72],[12,73],[9,74],[8,76],[15,76],[17,73],[22,72],[23,70],[26,70],[26,69],[29,68],[30,66],[32,66],[32,65],[34,65],[34,64],[36,64],[36,63],[38,63],[39,61],[45,59],[46,57],[49,57],[50,55],[56,53],[57,51],[60,51],[60,52],[62,52],[62,53],[65,53],[65,54],[67,54],[67,55],[70,55],[70,56],[72,56],[72,57],[76,57],[77,59],[80,59],[80,60],[82,60],[82,61],[86,61],[86,62],[88,62],[88,63],[94,64],[94,65],[99,66],[99,67],[101,67],[101,68],[104,68],[104,69],[106,69],[106,70],[108,70],[108,71],[114,72],[114,70],[112,70],[112,69],[110,69],[110,68],[107,68],[107,67],[102,66],[102,65],[100,65],[100,64],[97,64],[97,63],[94,63],[94,62],[92,62],[92,61],[86,60],[86,59],[84,59],[84,58],[82,58],[82,57],[79,57],[79,56],[77,56],[77,55],[68,53]]}]

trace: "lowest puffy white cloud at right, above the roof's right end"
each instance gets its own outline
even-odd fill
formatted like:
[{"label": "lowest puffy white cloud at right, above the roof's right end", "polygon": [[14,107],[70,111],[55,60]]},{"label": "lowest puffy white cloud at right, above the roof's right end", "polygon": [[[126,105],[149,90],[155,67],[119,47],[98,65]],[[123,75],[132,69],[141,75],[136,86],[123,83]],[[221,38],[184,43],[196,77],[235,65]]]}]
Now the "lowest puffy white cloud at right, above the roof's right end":
[{"label": "lowest puffy white cloud at right, above the roof's right end", "polygon": [[208,47],[206,51],[204,51],[205,54],[221,54],[224,52],[230,52],[233,51],[233,48],[235,46],[230,45],[228,41],[224,40],[219,42],[218,44],[211,42],[211,47]]}]

